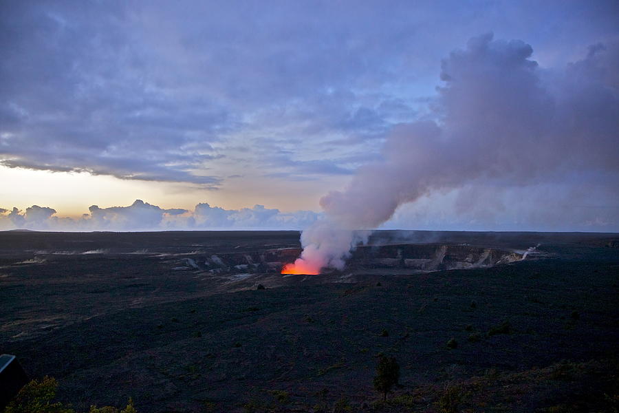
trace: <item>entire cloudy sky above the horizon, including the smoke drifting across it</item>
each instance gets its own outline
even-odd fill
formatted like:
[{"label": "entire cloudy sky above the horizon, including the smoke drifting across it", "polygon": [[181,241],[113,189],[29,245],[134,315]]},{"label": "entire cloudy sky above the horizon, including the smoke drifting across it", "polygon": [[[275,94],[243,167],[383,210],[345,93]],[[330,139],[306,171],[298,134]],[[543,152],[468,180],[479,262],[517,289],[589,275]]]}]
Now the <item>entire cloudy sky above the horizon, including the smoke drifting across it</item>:
[{"label": "entire cloudy sky above the horizon, including the smoke drifting across it", "polygon": [[0,229],[619,231],[617,1],[6,0],[0,48]]}]

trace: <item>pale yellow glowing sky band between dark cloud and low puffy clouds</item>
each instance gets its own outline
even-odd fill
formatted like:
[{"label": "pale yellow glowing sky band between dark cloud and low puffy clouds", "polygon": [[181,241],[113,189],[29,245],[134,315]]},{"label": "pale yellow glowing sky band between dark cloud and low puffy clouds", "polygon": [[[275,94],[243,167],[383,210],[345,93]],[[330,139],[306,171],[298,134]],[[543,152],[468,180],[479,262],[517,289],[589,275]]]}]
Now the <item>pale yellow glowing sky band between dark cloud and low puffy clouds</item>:
[{"label": "pale yellow glowing sky band between dark cloud and low puffy clouds", "polygon": [[127,207],[136,199],[169,209],[193,210],[199,202],[224,209],[263,204],[281,211],[319,211],[325,189],[340,187],[338,180],[290,182],[278,178],[231,178],[221,189],[209,191],[192,184],[121,180],[89,173],[34,171],[0,166],[0,208],[50,207],[56,216],[78,218],[88,207]]}]

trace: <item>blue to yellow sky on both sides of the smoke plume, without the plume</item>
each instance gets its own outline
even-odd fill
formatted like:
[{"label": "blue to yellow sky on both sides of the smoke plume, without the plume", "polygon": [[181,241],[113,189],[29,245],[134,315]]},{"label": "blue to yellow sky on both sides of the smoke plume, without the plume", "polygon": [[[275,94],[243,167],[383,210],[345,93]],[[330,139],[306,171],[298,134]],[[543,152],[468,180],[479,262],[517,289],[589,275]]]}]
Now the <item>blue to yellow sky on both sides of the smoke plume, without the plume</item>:
[{"label": "blue to yellow sky on both sides of the smoke plume, without the plume", "polygon": [[[540,89],[574,110],[576,101],[563,96],[569,82],[561,79],[589,65],[591,50],[602,50],[600,64],[618,62],[616,1],[3,1],[0,8],[5,228],[27,221],[9,220],[13,207],[25,217],[36,204],[56,212],[36,215],[32,227],[93,229],[89,206],[130,206],[138,198],[162,211],[183,209],[193,221],[180,226],[192,227],[195,205],[208,202],[237,212],[265,205],[289,217],[226,220],[222,227],[303,227],[307,213],[303,220],[290,217],[296,211],[321,213],[325,193],[360,182],[358,170],[384,162],[385,142],[398,127],[425,120],[442,125],[455,113],[448,105],[475,106],[469,100],[484,87],[457,99],[440,92],[457,89],[441,73],[455,61],[455,50],[473,53],[469,39],[492,33],[496,47],[512,40],[528,45],[530,53],[521,57],[536,62]],[[577,76],[597,76],[587,71]],[[607,129],[587,123],[583,130],[605,136],[592,145],[612,155],[618,146],[610,120],[618,113],[614,81],[586,95],[608,90],[607,110],[598,110],[598,100],[578,110],[594,111],[589,119],[602,117],[596,124]],[[573,96],[585,96],[578,93]],[[554,116],[554,106],[540,107]],[[521,146],[528,142],[522,134],[484,136],[484,144],[531,150]],[[549,142],[565,157],[580,151],[578,145]],[[428,149],[399,150],[420,148]],[[517,179],[488,171],[453,184],[433,183],[418,196],[398,198],[402,207],[387,226],[619,231],[617,170],[598,170],[591,165],[605,160],[583,158],[531,173],[527,184],[523,174]],[[438,157],[434,163],[441,162],[457,161]],[[517,162],[510,167],[519,168]],[[560,222],[539,215],[548,205],[540,194],[548,191],[556,195],[553,207],[563,211]],[[468,193],[485,201],[466,207]],[[530,202],[523,204],[523,198]],[[177,222],[176,215],[162,212],[160,221],[157,215],[127,228],[156,229]],[[65,216],[73,223],[58,219]],[[79,226],[79,220],[88,225]]]}]

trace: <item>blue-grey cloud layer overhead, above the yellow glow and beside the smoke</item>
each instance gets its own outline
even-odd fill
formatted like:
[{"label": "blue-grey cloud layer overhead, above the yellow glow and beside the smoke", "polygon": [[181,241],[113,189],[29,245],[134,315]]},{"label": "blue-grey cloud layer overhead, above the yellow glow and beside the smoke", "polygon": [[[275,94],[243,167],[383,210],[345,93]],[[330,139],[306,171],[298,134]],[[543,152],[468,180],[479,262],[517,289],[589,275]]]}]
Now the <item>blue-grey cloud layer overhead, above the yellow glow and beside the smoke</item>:
[{"label": "blue-grey cloud layer overhead, above the yellow glow and beside the smoke", "polygon": [[[0,162],[212,188],[233,174],[221,156],[259,150],[261,134],[300,142],[287,149],[303,159],[296,172],[252,160],[266,174],[347,173],[340,159],[424,115],[460,39],[496,28],[563,56],[616,33],[613,2],[494,4],[3,1]],[[341,145],[321,167],[325,142]]]}]

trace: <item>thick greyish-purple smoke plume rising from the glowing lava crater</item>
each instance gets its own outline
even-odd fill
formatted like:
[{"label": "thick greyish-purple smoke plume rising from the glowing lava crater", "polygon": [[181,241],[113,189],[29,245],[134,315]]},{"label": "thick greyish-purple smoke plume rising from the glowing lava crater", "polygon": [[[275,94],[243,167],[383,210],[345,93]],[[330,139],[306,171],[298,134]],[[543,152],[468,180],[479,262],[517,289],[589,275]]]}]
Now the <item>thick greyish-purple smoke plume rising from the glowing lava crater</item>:
[{"label": "thick greyish-purple smoke plume rising from the glowing lava crater", "polygon": [[295,266],[343,268],[358,242],[354,230],[376,229],[404,203],[475,182],[501,190],[605,182],[616,199],[618,46],[594,45],[584,59],[549,70],[522,41],[470,39],[442,61],[431,114],[395,127],[379,162],[321,199],[325,219],[303,231]]}]

